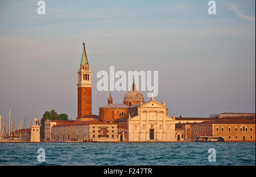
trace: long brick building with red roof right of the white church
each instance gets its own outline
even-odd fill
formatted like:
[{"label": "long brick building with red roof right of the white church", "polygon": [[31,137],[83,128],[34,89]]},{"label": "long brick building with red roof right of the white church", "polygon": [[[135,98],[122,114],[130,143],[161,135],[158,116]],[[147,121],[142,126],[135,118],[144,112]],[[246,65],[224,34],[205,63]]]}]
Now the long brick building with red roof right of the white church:
[{"label": "long brick building with red roof right of the white church", "polygon": [[196,141],[199,137],[221,137],[225,142],[255,142],[255,115],[223,117],[222,119],[183,123],[176,126],[182,127],[184,141]]}]

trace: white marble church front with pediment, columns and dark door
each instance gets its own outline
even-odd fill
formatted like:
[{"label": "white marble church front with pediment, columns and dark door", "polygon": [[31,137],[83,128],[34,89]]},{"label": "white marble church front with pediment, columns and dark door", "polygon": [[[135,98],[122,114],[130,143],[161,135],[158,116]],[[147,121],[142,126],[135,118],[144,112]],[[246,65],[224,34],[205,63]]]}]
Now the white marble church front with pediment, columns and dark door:
[{"label": "white marble church front with pediment, columns and dark door", "polygon": [[138,115],[127,120],[127,141],[176,141],[175,119],[164,103],[154,99],[138,106]]}]

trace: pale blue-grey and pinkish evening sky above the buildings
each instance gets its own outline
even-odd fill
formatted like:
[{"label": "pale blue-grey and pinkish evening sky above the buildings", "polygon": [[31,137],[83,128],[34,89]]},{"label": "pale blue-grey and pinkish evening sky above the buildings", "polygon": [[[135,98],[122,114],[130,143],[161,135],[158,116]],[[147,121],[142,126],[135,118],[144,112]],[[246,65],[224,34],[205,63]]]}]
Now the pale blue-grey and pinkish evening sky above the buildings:
[{"label": "pale blue-grey and pinkish evening sky above the buildings", "polygon": [[[82,43],[92,69],[92,107],[107,104],[97,72],[159,71],[155,100],[168,115],[255,113],[255,1],[0,0],[0,114],[30,121],[55,109],[77,117]],[[122,103],[126,91],[113,91]],[[142,92],[145,100],[147,91]]]}]

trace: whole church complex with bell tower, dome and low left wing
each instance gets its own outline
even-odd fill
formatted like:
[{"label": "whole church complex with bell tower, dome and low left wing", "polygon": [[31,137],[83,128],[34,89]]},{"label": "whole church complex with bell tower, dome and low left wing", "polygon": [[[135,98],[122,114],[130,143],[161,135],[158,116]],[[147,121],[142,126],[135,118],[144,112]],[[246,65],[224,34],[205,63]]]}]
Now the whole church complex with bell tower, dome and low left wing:
[{"label": "whole church complex with bell tower, dome and low left wing", "polygon": [[100,115],[92,115],[92,77],[85,45],[77,74],[77,118],[46,120],[44,141],[175,141],[175,119],[167,115],[165,102],[154,97],[145,102],[135,82],[123,103],[114,104],[110,93],[108,104],[99,108]]}]

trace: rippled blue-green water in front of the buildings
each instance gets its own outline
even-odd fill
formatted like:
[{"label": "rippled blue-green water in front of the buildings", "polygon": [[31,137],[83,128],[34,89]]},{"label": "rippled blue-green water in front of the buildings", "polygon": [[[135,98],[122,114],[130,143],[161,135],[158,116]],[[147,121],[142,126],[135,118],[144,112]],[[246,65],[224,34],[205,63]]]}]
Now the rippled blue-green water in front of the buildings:
[{"label": "rippled blue-green water in front of the buildings", "polygon": [[[38,149],[46,162],[38,162]],[[216,162],[208,149],[216,149]],[[1,143],[0,165],[254,165],[255,142]]]}]

